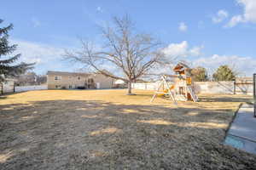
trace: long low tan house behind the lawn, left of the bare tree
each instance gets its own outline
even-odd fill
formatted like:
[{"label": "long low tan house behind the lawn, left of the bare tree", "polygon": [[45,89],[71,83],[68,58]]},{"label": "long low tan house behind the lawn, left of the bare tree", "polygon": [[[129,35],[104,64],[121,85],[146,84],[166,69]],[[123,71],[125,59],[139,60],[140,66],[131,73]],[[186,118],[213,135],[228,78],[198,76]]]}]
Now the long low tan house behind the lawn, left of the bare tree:
[{"label": "long low tan house behind the lawn, left of the bare tree", "polygon": [[54,88],[113,88],[113,78],[98,73],[48,71],[48,89]]}]

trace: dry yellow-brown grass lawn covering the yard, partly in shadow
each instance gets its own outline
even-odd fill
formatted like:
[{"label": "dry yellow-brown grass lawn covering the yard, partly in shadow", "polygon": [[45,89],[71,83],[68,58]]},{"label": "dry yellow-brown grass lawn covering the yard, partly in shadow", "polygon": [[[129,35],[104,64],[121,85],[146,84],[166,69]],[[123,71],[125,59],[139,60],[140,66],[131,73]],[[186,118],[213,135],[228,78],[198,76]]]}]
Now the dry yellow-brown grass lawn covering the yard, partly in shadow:
[{"label": "dry yellow-brown grass lawn covering the yard, partly in shadow", "polygon": [[173,105],[153,92],[45,90],[0,97],[0,169],[256,169],[222,144],[247,96]]}]

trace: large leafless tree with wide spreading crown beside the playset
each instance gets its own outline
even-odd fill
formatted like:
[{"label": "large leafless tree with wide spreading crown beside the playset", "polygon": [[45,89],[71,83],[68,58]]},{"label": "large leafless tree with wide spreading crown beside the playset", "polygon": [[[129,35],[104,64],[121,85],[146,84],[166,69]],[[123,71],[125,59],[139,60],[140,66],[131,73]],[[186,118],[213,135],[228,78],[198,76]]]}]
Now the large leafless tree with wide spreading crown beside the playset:
[{"label": "large leafless tree with wide spreading crown beside the playset", "polygon": [[139,33],[128,16],[114,17],[113,26],[102,27],[101,31],[102,47],[81,40],[82,49],[66,51],[64,57],[107,77],[128,82],[128,94],[131,94],[131,82],[164,60],[161,43],[149,34]]}]

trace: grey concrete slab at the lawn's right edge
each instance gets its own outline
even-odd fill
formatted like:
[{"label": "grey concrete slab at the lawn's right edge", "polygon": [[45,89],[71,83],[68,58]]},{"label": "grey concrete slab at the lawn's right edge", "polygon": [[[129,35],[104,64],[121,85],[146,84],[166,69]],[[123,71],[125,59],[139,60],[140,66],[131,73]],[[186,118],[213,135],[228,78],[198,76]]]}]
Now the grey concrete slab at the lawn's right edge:
[{"label": "grey concrete slab at the lawn's right edge", "polygon": [[256,154],[256,118],[253,116],[253,105],[241,105],[224,144]]}]

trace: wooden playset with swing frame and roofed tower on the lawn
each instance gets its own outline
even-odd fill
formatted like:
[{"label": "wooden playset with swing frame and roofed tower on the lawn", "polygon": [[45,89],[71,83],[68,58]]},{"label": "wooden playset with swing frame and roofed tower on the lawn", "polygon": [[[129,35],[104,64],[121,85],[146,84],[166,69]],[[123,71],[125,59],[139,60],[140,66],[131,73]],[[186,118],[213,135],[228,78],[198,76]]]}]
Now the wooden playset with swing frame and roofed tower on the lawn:
[{"label": "wooden playset with swing frame and roofed tower on the lawn", "polygon": [[157,96],[164,96],[172,99],[175,104],[177,104],[177,100],[192,100],[197,102],[198,98],[192,88],[192,78],[189,66],[183,63],[178,63],[173,68],[173,71],[176,75],[164,75],[161,77],[159,87],[155,91],[150,102],[153,102],[154,98]]}]

